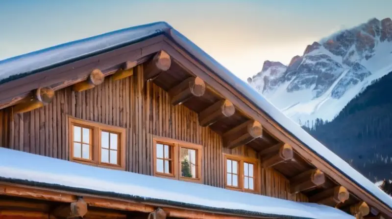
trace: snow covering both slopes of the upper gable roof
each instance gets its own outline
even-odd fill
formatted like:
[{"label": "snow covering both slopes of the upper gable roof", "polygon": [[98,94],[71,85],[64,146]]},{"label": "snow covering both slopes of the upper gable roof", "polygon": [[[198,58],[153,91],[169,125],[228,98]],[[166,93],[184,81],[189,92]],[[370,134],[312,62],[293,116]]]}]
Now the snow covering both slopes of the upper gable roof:
[{"label": "snow covering both slopes of the upper gable roof", "polygon": [[363,188],[365,191],[368,191],[369,194],[392,208],[392,197],[379,189],[365,176],[361,175],[338,155],[331,152],[309,133],[304,131],[298,124],[285,116],[245,81],[235,76],[232,72],[205,53],[196,44],[192,43],[165,22],[156,22],[126,28],[0,61],[0,84],[2,83],[2,80],[3,82],[14,80],[27,74],[70,63],[90,55],[106,52],[110,49],[133,44],[159,34],[166,35],[176,44],[182,46],[196,59],[214,71],[215,74],[221,77],[222,80],[237,89],[251,103],[257,106],[260,110],[266,112],[271,119],[280,124],[283,129],[291,133],[313,153],[324,159],[331,166],[339,170],[343,175],[350,178],[353,182],[356,182],[358,186]]}]

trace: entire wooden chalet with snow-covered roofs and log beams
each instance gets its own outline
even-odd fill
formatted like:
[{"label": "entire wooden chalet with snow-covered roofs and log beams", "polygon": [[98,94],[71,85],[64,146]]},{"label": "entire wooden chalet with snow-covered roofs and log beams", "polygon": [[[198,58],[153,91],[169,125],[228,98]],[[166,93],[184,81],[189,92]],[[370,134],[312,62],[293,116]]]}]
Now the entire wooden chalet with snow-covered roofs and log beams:
[{"label": "entire wooden chalet with snow-covered roofs and log beams", "polygon": [[392,219],[392,198],[164,22],[0,61],[0,219]]}]

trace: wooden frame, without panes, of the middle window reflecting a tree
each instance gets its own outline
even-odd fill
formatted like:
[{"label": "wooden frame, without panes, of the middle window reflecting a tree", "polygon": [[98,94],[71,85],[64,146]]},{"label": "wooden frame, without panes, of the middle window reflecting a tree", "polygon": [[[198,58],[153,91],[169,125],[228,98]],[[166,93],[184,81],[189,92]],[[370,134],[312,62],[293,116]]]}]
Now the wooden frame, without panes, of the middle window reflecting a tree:
[{"label": "wooden frame, without panes, of the middle window reflecting a tree", "polygon": [[[157,168],[156,168],[156,164],[157,164],[156,144],[157,143],[171,146],[172,154],[173,154],[173,158],[172,158],[173,174],[165,174],[165,173],[157,172]],[[181,176],[181,159],[180,159],[181,153],[180,152],[182,148],[196,150],[196,176],[197,176],[196,178]],[[203,159],[202,145],[197,145],[186,141],[180,141],[167,137],[161,137],[155,135],[153,136],[153,171],[154,171],[153,175],[154,176],[177,179],[177,180],[182,180],[187,182],[202,183],[203,182],[202,159]]]}]

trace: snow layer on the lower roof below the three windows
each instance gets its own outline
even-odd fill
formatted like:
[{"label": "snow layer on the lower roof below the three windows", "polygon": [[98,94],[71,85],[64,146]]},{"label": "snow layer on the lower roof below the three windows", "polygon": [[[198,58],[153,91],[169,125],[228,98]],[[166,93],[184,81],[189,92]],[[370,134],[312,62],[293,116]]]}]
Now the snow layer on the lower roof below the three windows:
[{"label": "snow layer on the lower roof below the three windows", "polygon": [[240,215],[354,219],[339,209],[316,203],[99,168],[6,148],[0,148],[0,180]]}]

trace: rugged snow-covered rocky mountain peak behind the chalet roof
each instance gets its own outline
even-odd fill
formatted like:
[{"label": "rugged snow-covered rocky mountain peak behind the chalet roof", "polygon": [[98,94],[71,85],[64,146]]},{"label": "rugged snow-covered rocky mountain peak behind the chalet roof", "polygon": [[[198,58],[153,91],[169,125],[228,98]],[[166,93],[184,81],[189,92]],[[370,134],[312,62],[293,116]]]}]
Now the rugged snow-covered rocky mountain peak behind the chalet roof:
[{"label": "rugged snow-covered rocky mountain peak behind the chalet roof", "polygon": [[373,18],[309,44],[287,66],[265,61],[248,83],[299,124],[331,121],[391,60],[392,20]]}]

